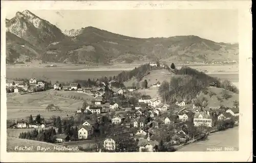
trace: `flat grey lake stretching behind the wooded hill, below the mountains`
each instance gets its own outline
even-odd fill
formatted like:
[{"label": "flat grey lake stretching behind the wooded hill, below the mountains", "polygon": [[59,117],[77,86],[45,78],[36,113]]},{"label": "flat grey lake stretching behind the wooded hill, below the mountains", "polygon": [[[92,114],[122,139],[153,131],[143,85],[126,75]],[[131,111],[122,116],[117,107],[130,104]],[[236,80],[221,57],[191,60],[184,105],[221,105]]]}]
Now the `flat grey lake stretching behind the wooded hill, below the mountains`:
[{"label": "flat grey lake stretching behind the wooded hill, below the mountains", "polygon": [[[6,69],[7,78],[40,78],[56,80],[60,82],[71,82],[74,80],[87,80],[101,78],[102,76],[115,76],[118,75],[120,70],[110,71],[70,71],[77,70],[77,67],[66,68],[66,67],[49,67],[49,68],[10,68]],[[99,69],[100,70],[100,69]],[[239,74],[225,73],[225,74],[209,74],[212,77],[218,77],[221,80],[230,80],[231,82],[239,82]],[[46,77],[46,78],[44,78]]]}]

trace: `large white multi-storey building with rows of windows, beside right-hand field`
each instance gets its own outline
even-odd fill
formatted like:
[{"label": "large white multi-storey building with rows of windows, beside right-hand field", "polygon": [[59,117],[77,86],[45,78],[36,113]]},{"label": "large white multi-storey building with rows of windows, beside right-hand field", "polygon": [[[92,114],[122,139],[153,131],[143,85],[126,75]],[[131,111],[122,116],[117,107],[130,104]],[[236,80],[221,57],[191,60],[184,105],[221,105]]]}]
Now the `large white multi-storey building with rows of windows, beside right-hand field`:
[{"label": "large white multi-storey building with rows of windows, beside right-hand field", "polygon": [[211,127],[212,119],[210,115],[204,112],[199,112],[199,113],[196,113],[194,116],[194,125],[195,126],[205,125],[207,127]]}]

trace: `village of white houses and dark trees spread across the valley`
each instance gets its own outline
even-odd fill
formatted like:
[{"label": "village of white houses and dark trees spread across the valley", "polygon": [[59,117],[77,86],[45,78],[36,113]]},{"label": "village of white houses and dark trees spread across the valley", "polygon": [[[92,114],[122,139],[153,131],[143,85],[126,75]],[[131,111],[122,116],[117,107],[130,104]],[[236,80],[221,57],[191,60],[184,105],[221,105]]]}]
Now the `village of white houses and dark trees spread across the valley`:
[{"label": "village of white houses and dark trees spread across the valley", "polygon": [[[54,131],[52,143],[96,140],[101,143],[94,149],[97,152],[123,150],[158,152],[175,151],[181,146],[206,138],[211,132],[233,127],[239,122],[238,107],[200,107],[184,101],[167,104],[160,98],[136,93],[136,90],[147,89],[147,86],[115,88],[112,86],[113,81],[104,83],[97,80],[96,82],[95,87],[81,87],[79,83],[74,82],[69,86],[59,83],[50,85],[35,78],[31,78],[29,82],[7,81],[6,87],[9,93],[28,94],[53,89],[78,92],[94,98],[92,101],[84,101],[83,105],[74,112],[74,116],[79,119],[77,123],[73,120],[69,124],[70,121],[65,120],[64,124],[64,121],[59,120],[59,125],[53,125],[56,119],[46,124],[44,119],[39,118],[34,121],[31,117],[30,121],[16,121],[11,128],[35,128],[44,132],[46,128],[53,126],[58,132]],[[160,86],[159,81],[152,85],[152,87]],[[217,87],[217,84],[213,83],[209,86]],[[24,133],[22,134],[23,136],[20,137],[26,138]],[[130,140],[134,142],[132,147],[124,145],[123,141]],[[123,144],[120,145],[120,142]]]}]

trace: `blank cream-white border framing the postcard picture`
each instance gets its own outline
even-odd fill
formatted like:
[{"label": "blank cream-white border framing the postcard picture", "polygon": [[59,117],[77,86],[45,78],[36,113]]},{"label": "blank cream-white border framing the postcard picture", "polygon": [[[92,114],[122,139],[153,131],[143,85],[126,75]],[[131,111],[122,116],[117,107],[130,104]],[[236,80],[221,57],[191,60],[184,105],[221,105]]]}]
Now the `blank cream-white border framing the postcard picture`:
[{"label": "blank cream-white border framing the postcard picture", "polygon": [[[7,153],[5,89],[5,11],[124,10],[124,9],[238,9],[240,127],[237,152],[171,153]],[[1,4],[1,162],[114,162],[114,161],[252,161],[252,18],[251,1],[2,1]],[[206,15],[207,16],[207,15]],[[3,95],[3,96],[2,96]]]}]

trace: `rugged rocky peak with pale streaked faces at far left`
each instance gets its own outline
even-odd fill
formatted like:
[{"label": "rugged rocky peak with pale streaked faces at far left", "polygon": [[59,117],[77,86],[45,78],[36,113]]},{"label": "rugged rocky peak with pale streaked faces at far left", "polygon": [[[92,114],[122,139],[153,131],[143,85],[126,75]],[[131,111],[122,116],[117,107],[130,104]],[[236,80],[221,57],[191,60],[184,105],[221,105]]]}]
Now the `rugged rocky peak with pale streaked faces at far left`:
[{"label": "rugged rocky peak with pale streaked faces at far left", "polygon": [[12,19],[6,21],[6,28],[7,32],[23,38],[32,45],[40,46],[42,49],[51,42],[65,38],[60,29],[28,10],[17,12]]}]

